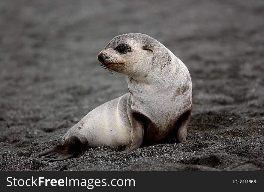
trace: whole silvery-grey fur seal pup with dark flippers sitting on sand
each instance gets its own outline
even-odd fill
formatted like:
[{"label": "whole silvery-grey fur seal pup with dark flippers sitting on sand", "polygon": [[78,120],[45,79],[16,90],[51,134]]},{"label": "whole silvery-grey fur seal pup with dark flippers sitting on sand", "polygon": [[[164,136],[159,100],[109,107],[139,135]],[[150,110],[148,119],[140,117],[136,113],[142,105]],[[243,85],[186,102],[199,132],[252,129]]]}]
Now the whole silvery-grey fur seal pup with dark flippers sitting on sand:
[{"label": "whole silvery-grey fur seal pup with dark flippers sitting on sand", "polygon": [[124,151],[164,141],[186,143],[192,110],[189,71],[163,44],[141,33],[116,36],[98,54],[107,69],[127,76],[129,93],[89,112],[62,144],[34,157],[64,160],[87,147],[127,145]]}]

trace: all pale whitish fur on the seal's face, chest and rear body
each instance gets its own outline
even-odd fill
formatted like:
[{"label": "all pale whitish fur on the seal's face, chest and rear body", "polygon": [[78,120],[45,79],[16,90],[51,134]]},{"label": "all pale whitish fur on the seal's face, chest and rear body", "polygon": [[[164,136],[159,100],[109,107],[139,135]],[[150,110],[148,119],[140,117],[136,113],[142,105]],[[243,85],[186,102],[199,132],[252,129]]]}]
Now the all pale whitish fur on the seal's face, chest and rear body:
[{"label": "all pale whitish fur on the seal's face, chest and rear body", "polygon": [[[170,50],[159,42],[153,52],[143,50],[142,46],[145,45],[142,42],[128,38],[126,43],[133,51],[118,54],[114,47],[118,43],[112,42],[114,45],[105,47],[101,53],[126,63],[120,73],[127,75],[128,88],[133,95],[126,93],[96,107],[66,133],[63,141],[81,135],[88,140],[89,147],[127,145],[131,131],[131,109],[144,114],[165,131],[169,122],[191,107],[191,104],[186,105],[188,97],[192,95],[190,78],[186,81],[190,77],[189,71]],[[164,67],[160,65],[159,58],[154,58],[157,51],[167,51],[170,64]],[[177,88],[184,83],[188,85],[187,91],[175,97]]]}]

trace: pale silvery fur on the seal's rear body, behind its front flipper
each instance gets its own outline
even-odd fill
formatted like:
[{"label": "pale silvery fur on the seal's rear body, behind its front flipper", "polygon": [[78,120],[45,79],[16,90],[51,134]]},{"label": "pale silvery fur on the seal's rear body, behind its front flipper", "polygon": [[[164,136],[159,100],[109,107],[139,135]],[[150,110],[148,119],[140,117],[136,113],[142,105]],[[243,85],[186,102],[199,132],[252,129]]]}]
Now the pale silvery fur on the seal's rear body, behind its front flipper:
[{"label": "pale silvery fur on the seal's rear body, behind its front flipper", "polygon": [[128,97],[129,93],[91,110],[68,130],[63,141],[81,135],[88,140],[89,147],[127,145],[131,130],[126,107]]}]

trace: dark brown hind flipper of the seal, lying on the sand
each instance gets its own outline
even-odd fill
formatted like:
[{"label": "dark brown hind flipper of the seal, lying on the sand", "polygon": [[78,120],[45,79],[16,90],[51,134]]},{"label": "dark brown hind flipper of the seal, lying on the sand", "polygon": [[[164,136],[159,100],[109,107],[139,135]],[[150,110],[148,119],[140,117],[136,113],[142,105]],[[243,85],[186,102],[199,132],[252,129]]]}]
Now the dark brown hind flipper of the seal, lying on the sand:
[{"label": "dark brown hind flipper of the seal, lying on the sand", "polygon": [[60,161],[76,157],[86,148],[86,141],[81,142],[78,137],[73,136],[65,140],[61,145],[47,149],[33,157],[44,160]]}]

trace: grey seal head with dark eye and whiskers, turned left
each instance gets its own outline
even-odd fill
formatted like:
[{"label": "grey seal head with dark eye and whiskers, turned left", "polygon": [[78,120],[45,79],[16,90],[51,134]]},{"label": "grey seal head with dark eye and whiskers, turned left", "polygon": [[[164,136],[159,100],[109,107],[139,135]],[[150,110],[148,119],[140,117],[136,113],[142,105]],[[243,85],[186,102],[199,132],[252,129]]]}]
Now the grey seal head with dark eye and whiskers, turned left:
[{"label": "grey seal head with dark eye and whiskers, turned left", "polygon": [[170,55],[154,38],[129,33],[113,38],[98,54],[98,60],[108,69],[140,81],[154,70],[160,74],[161,68],[170,64]]}]

